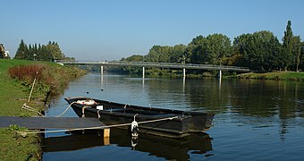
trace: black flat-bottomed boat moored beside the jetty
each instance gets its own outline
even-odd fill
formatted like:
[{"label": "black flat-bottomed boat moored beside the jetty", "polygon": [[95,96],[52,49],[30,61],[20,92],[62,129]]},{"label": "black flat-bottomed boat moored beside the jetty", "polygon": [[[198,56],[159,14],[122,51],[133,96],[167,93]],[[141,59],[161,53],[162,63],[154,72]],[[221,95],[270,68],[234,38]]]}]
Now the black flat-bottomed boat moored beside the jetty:
[{"label": "black flat-bottomed boat moored beside the jetty", "polygon": [[[78,100],[86,99],[88,97],[65,98],[69,104],[72,104],[72,109],[80,117],[97,117],[106,125],[119,125],[133,122],[136,114],[139,132],[171,138],[181,138],[189,135],[190,132],[207,131],[214,117],[214,114],[131,106],[98,99],[93,99],[97,103],[93,106],[75,103]],[[103,110],[98,110],[97,106],[102,106]],[[128,129],[130,125],[119,127]]]}]

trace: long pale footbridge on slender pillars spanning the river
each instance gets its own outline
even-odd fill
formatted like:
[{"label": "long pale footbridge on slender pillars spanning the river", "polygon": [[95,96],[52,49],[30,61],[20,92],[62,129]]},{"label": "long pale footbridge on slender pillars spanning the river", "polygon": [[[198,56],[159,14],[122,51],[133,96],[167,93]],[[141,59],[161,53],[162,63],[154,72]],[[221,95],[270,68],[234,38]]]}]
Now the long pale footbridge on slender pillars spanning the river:
[{"label": "long pale footbridge on slender pillars spanning the river", "polygon": [[101,73],[103,73],[104,66],[139,66],[143,69],[143,77],[145,75],[145,67],[157,67],[168,69],[183,69],[183,76],[186,76],[186,69],[198,70],[216,70],[219,71],[219,77],[222,77],[222,71],[232,72],[250,72],[249,68],[239,66],[225,66],[225,65],[210,65],[210,64],[170,64],[170,63],[150,63],[150,62],[64,62],[56,61],[58,64],[63,65],[99,65]]}]

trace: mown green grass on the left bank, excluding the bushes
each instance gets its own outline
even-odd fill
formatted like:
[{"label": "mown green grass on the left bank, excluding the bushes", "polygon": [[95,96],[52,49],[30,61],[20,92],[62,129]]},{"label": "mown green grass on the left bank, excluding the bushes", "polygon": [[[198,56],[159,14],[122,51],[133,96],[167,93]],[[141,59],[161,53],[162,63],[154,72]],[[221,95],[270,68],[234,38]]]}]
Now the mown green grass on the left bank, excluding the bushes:
[{"label": "mown green grass on the left bank, excluding the bushes", "polygon": [[[0,115],[34,115],[34,113],[21,109],[29,93],[25,92],[25,88],[17,80],[12,80],[7,73],[9,68],[19,64],[30,64],[30,62],[0,60]],[[37,135],[22,138],[13,131],[0,128],[0,138],[2,160],[38,160],[41,148]]]}]

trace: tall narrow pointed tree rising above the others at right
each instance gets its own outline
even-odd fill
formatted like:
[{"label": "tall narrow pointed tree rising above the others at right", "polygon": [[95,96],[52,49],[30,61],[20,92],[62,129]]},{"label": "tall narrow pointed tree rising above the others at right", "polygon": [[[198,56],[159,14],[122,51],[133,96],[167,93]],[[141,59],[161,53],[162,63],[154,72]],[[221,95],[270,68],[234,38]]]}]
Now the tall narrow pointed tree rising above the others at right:
[{"label": "tall narrow pointed tree rising above the others at right", "polygon": [[293,63],[294,55],[292,55],[293,34],[291,30],[291,21],[287,22],[286,30],[283,37],[283,64],[285,71]]}]

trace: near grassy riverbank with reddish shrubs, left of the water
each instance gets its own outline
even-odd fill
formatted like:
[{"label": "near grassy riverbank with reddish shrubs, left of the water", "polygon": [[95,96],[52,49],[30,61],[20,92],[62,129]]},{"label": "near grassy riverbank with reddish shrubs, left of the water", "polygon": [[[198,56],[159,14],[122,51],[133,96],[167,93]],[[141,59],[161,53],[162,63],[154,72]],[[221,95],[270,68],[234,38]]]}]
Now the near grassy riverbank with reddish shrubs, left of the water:
[{"label": "near grassy riverbank with reddish shrubs, left of the water", "polygon": [[[53,92],[60,91],[60,89],[63,90],[68,81],[85,73],[75,68],[58,64],[0,59],[0,115],[37,115],[34,112],[21,109],[21,106],[27,102],[29,97],[33,78],[13,79],[9,71],[13,67],[20,65],[34,65],[41,67],[41,69],[43,68],[41,70],[42,73],[40,73],[41,79],[38,79],[34,88],[33,100],[27,103],[29,106],[39,110],[44,108],[43,100],[46,99],[46,93],[51,93],[51,90]],[[20,69],[16,71],[18,72]],[[27,73],[23,74],[29,75]],[[0,128],[0,157],[2,160],[38,160],[41,157],[40,137],[32,134],[23,138],[16,135],[14,131],[18,131],[18,127]]]}]

